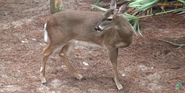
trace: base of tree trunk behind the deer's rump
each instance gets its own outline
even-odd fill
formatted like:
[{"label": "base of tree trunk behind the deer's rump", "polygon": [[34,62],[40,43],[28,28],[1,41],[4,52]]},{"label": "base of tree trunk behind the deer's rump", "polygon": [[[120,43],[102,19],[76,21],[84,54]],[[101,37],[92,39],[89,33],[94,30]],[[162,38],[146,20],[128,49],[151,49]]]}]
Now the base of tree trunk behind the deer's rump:
[{"label": "base of tree trunk behind the deer's rump", "polygon": [[62,11],[62,0],[50,0],[50,13]]}]

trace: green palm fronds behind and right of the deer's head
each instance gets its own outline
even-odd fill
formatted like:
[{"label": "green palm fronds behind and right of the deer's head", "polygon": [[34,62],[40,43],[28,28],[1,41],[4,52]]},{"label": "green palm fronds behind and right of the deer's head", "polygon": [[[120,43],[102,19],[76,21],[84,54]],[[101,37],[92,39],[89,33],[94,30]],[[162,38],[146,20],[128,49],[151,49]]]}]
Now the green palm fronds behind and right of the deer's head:
[{"label": "green palm fronds behind and right of the deer's head", "polygon": [[[93,7],[100,9],[102,11],[107,11],[106,8],[99,7],[97,4],[101,2],[102,0],[98,0]],[[136,9],[133,12],[139,12],[140,14],[146,12],[148,9],[152,8],[154,5],[157,5],[157,3],[167,3],[169,0],[121,0],[121,1],[130,1],[131,3],[129,4],[129,7],[135,7]],[[185,0],[175,0],[177,3],[183,3],[183,7],[185,7]],[[162,6],[165,7],[165,6]],[[139,29],[139,18],[144,18],[144,17],[149,17],[149,16],[154,16],[154,15],[160,15],[164,13],[169,13],[169,12],[174,12],[174,11],[179,11],[183,10],[184,8],[179,8],[179,9],[174,9],[174,10],[169,10],[169,11],[164,11],[164,12],[159,12],[155,14],[150,14],[150,15],[145,15],[145,16],[133,16],[127,13],[124,13],[123,16],[127,18],[127,20],[130,22],[130,24],[133,25],[133,28],[135,30],[135,34],[137,32],[142,35],[140,29]]]}]

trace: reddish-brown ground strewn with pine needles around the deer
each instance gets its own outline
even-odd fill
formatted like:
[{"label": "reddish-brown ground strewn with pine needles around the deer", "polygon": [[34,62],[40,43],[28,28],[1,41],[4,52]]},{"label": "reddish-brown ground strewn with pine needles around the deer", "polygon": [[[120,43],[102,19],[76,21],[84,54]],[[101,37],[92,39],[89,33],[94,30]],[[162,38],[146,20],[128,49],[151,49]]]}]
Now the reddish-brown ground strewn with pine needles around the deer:
[{"label": "reddish-brown ground strewn with pine needles around the deer", "polygon": [[[96,0],[63,1],[67,8],[90,10]],[[119,50],[121,91],[112,80],[103,48],[72,50],[70,61],[85,78],[81,81],[69,73],[58,55],[50,56],[48,84],[41,84],[41,53],[46,46],[42,29],[49,15],[49,0],[0,0],[0,93],[185,93],[184,48],[158,40],[185,44],[184,15],[140,19],[143,36],[134,35],[133,43]],[[181,82],[175,90],[175,84]]]}]

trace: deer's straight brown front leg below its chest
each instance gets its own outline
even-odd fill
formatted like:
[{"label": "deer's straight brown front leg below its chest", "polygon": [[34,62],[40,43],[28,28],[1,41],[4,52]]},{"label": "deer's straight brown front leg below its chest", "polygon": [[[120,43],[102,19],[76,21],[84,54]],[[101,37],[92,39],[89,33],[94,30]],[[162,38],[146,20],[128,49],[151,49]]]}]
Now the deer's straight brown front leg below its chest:
[{"label": "deer's straight brown front leg below its chest", "polygon": [[118,70],[117,70],[118,49],[114,47],[108,47],[108,55],[112,63],[113,71],[114,71],[114,82],[116,83],[118,90],[121,90],[123,89],[123,86],[119,82]]}]

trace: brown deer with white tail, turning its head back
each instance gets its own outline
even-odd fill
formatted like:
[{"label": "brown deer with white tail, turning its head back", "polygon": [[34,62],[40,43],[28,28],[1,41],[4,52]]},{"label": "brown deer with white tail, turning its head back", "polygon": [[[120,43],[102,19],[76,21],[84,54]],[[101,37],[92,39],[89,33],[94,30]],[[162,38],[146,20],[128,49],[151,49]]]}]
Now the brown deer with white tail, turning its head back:
[{"label": "brown deer with white tail, turning its head back", "polygon": [[90,46],[107,49],[113,67],[113,80],[118,90],[123,89],[118,78],[118,49],[132,43],[134,29],[122,15],[128,4],[123,4],[119,9],[116,6],[116,0],[111,0],[110,8],[106,12],[64,10],[49,16],[50,19],[44,24],[44,40],[48,45],[42,52],[42,84],[46,84],[46,61],[56,50],[70,73],[81,80],[82,75],[73,68],[68,56],[75,46]]}]

